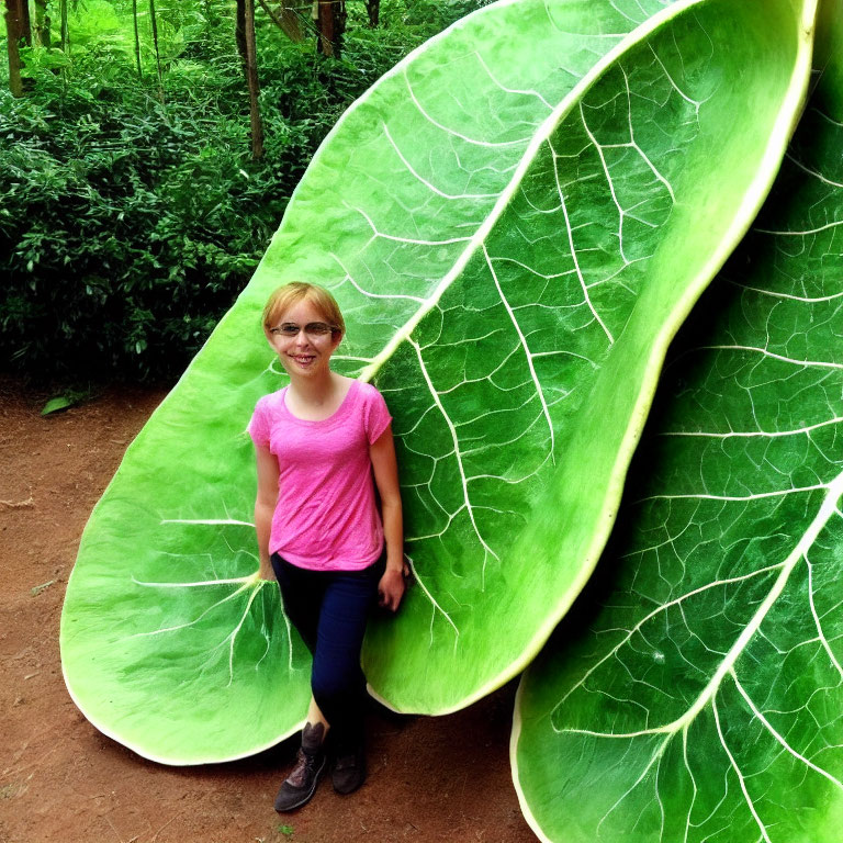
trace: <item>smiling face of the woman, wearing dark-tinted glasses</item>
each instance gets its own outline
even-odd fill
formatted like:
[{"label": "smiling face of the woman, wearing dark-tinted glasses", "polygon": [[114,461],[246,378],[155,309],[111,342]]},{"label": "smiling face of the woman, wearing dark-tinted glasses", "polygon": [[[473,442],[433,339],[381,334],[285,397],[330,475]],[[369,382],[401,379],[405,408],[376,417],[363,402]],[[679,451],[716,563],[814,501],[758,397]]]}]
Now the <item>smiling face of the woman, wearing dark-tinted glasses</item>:
[{"label": "smiling face of the woman, wearing dark-tinted glasses", "polygon": [[311,379],[328,372],[330,356],[342,335],[319,333],[325,325],[325,315],[305,299],[285,310],[271,326],[269,345],[291,378]]}]

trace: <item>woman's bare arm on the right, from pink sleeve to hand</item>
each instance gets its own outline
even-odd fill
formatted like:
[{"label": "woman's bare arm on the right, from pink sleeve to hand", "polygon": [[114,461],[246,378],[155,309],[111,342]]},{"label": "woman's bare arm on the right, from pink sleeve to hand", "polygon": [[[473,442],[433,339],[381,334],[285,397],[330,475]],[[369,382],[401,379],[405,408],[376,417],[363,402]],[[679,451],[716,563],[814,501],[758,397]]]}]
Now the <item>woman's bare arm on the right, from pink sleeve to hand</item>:
[{"label": "woman's bare arm on the right, from pink sleeve to hand", "polygon": [[381,496],[383,538],[386,541],[386,571],[381,577],[378,594],[381,606],[395,611],[404,596],[404,518],[392,425],[369,446],[369,457],[378,494]]}]

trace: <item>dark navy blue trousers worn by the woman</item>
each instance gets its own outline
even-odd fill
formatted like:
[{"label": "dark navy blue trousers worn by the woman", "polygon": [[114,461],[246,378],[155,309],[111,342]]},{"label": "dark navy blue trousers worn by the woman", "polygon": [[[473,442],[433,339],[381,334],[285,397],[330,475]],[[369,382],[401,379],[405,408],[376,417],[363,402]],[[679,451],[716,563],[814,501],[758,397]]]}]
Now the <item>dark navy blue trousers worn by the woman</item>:
[{"label": "dark navy blue trousers worn by the woman", "polygon": [[385,554],[362,571],[308,571],[270,558],[284,611],[313,655],[311,689],[338,752],[362,739],[366,677],[360,667],[369,612],[376,603]]}]

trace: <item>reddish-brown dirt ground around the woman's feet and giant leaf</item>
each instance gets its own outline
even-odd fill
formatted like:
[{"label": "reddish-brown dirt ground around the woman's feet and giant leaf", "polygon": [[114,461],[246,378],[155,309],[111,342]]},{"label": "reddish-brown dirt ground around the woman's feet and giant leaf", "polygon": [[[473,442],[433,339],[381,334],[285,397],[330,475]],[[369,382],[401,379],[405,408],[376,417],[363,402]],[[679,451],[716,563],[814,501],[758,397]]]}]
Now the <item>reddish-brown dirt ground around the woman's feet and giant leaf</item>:
[{"label": "reddish-brown dirt ground around the woman's feet and giant leaf", "polygon": [[294,753],[166,767],[98,732],[61,677],[65,586],[91,508],[161,389],[111,387],[64,413],[0,378],[0,843],[529,843],[509,776],[515,686],[440,718],[370,716],[369,780],[323,782],[280,817]]}]

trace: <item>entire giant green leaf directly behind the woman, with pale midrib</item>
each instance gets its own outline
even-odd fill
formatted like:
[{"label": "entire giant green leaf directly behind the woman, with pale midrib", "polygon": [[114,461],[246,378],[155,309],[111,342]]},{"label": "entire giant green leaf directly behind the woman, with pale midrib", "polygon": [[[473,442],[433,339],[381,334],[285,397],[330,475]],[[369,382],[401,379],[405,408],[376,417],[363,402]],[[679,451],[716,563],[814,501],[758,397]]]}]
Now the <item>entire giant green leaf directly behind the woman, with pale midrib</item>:
[{"label": "entire giant green leaf directly behind the woman, with pale midrib", "polygon": [[370,630],[375,693],[446,711],[520,670],[599,553],[670,338],[772,182],[811,20],[796,0],[504,2],[363,97],[92,515],[61,625],[89,719],[173,763],[301,720],[244,432],[282,383],[260,306],[297,278],[335,291],[335,360],[395,416],[418,583]]}]

